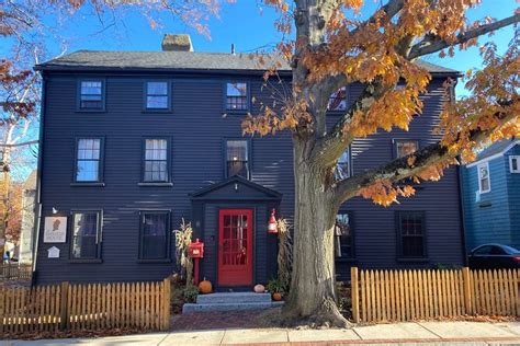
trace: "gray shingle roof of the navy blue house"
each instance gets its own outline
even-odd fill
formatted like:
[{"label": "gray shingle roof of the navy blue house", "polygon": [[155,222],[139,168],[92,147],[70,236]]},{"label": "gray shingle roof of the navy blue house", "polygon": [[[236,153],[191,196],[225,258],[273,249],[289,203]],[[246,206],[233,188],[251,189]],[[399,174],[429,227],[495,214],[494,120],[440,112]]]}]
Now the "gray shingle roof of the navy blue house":
[{"label": "gray shingle roof of the navy blue house", "polygon": [[[38,65],[44,70],[244,70],[259,71],[281,64],[279,70],[290,70],[289,65],[278,55],[262,55],[264,64],[259,64],[258,55],[200,53],[200,51],[103,51],[78,50],[64,57]],[[433,73],[459,73],[427,61],[417,64]]]}]

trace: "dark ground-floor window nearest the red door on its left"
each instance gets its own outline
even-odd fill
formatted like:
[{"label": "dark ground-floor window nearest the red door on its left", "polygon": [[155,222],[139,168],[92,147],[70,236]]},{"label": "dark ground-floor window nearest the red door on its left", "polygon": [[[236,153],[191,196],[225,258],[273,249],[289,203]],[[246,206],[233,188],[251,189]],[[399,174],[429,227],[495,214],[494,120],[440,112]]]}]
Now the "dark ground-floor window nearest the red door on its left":
[{"label": "dark ground-floor window nearest the red door on its left", "polygon": [[169,211],[140,212],[140,260],[167,260],[169,257]]}]

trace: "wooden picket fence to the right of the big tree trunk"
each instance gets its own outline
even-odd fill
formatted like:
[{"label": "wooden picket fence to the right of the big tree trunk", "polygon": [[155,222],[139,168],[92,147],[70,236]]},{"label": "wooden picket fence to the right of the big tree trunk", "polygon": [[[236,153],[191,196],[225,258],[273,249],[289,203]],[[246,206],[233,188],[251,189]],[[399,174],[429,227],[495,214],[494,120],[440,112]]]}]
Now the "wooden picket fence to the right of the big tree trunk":
[{"label": "wooden picket fence to the right of the big tree trunk", "polygon": [[354,322],[520,315],[520,270],[351,268]]}]

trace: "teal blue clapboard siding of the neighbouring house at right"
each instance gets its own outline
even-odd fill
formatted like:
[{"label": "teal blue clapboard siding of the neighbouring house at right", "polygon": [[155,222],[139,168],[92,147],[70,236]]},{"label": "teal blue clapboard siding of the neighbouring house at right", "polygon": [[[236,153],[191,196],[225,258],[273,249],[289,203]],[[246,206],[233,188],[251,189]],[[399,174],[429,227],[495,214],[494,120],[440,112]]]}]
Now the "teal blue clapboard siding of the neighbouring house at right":
[{"label": "teal blue clapboard siding of the neighbouring house at right", "polygon": [[463,168],[467,251],[485,243],[520,247],[520,174],[509,168],[509,157],[518,154],[517,145],[488,161],[491,191],[481,195],[477,165]]}]

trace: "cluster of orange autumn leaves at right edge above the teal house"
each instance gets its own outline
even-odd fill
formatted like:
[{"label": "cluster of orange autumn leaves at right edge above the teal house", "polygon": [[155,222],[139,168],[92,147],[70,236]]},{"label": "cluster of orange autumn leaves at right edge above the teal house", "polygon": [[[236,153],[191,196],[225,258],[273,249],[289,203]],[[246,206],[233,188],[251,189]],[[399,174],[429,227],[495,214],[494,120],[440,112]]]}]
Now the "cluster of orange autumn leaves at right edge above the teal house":
[{"label": "cluster of orange autumn leaves at right edge above the teal house", "polygon": [[[489,142],[520,136],[520,28],[504,55],[494,44],[481,48],[485,67],[470,71],[466,88],[471,91],[441,114],[442,145],[451,153],[460,153],[465,162],[475,159],[475,149]],[[486,132],[476,140],[475,132]]]}]

